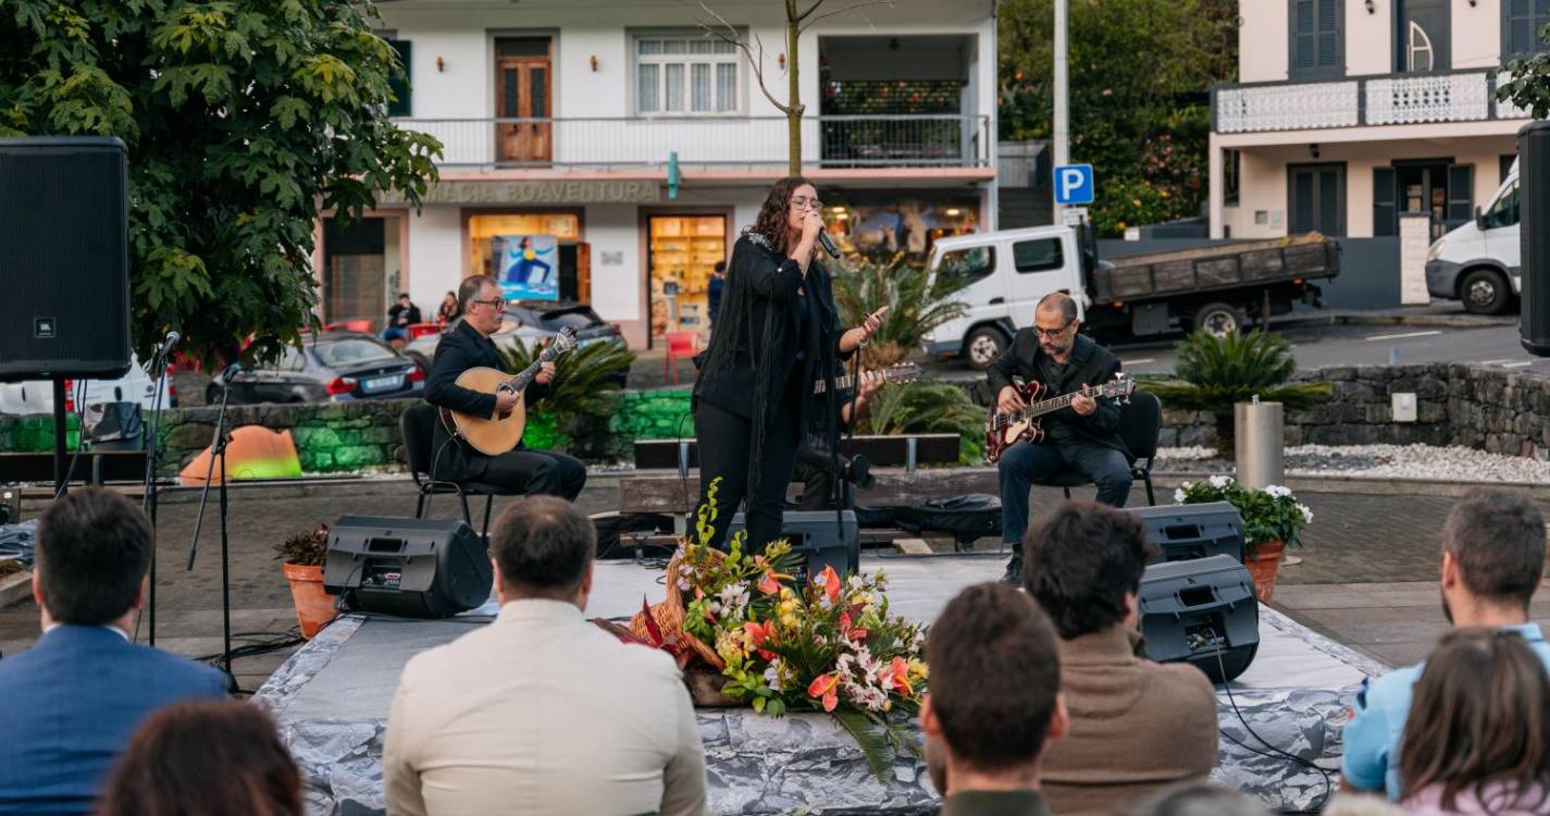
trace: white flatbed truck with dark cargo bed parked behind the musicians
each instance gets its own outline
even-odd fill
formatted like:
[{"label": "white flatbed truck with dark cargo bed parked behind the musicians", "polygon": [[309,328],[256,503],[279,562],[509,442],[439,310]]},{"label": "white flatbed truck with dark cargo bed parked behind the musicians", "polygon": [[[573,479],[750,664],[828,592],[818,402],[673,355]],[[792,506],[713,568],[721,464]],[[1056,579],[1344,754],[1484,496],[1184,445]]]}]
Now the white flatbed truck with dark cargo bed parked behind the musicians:
[{"label": "white flatbed truck with dark cargo bed parked behind the musicians", "polygon": [[969,313],[927,335],[925,352],[983,371],[1017,329],[1032,326],[1034,306],[1051,292],[1073,295],[1096,334],[1226,334],[1266,307],[1282,315],[1296,301],[1319,304],[1311,281],[1339,275],[1339,244],[1313,233],[1100,262],[1090,226],[1031,226],[944,237],[928,265],[967,278],[956,299]]}]

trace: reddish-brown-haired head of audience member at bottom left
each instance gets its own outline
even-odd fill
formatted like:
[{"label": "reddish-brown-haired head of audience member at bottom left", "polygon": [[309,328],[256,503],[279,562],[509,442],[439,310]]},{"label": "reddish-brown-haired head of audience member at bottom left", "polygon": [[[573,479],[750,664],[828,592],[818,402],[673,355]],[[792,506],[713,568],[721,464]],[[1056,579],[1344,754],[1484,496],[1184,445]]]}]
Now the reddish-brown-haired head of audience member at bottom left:
[{"label": "reddish-brown-haired head of audience member at bottom left", "polygon": [[264,709],[236,700],[153,714],[102,788],[98,816],[301,816],[301,773]]}]

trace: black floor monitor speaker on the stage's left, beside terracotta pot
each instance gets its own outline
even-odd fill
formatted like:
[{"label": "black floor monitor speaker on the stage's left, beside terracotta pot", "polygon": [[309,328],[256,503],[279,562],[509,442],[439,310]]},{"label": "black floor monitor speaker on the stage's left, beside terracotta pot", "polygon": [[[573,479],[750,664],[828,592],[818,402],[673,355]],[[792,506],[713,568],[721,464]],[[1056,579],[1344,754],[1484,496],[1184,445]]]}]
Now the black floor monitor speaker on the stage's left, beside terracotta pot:
[{"label": "black floor monitor speaker on the stage's left, beside terracotta pot", "polygon": [[494,569],[462,520],[347,515],[330,531],[322,588],[352,611],[448,617],[490,599]]}]

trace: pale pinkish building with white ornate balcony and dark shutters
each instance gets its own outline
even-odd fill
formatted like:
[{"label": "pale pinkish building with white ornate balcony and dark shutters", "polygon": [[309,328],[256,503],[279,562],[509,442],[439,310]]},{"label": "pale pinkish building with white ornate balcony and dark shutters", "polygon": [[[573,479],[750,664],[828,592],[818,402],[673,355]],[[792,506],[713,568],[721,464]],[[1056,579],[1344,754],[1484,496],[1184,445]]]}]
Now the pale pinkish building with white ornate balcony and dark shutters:
[{"label": "pale pinkish building with white ornate balcony and dark shutters", "polygon": [[1212,92],[1211,236],[1435,239],[1507,175],[1528,118],[1491,71],[1547,48],[1541,0],[1243,0]]}]

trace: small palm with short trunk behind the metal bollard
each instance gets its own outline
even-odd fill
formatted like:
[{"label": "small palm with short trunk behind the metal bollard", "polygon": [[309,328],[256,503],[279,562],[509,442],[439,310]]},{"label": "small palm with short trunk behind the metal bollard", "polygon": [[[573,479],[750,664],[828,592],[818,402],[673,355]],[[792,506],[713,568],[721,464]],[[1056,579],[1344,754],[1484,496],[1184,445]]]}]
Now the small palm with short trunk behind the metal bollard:
[{"label": "small palm with short trunk behind the metal bollard", "polygon": [[1139,383],[1164,408],[1209,411],[1217,420],[1217,456],[1234,456],[1232,406],[1259,396],[1290,410],[1313,408],[1331,391],[1327,382],[1294,383],[1297,361],[1291,343],[1260,330],[1215,337],[1192,332],[1178,343],[1173,379]]}]

